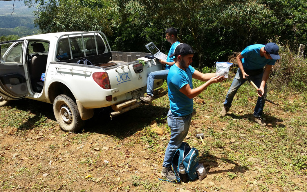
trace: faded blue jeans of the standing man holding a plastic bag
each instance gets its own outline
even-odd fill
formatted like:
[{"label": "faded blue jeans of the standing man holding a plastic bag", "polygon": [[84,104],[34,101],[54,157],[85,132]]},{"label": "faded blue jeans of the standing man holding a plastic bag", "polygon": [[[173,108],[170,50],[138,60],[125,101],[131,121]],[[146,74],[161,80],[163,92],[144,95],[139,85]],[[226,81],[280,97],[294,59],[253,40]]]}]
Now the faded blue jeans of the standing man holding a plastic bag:
[{"label": "faded blue jeans of the standing man holding a plastic bag", "polygon": [[172,167],[172,159],[174,153],[181,146],[182,141],[187,136],[191,120],[192,113],[184,117],[177,117],[173,115],[169,109],[169,113],[167,114],[167,123],[171,128],[171,138],[165,150],[165,156],[162,165],[163,167]]}]

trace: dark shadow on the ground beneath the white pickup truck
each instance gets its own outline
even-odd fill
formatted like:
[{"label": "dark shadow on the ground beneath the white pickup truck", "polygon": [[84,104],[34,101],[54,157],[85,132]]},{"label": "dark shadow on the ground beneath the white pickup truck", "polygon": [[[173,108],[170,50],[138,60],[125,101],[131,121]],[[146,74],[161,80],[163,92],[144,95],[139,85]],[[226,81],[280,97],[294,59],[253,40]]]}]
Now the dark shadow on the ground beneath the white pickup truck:
[{"label": "dark shadow on the ground beneath the white pickup truck", "polygon": [[[10,106],[34,114],[33,117],[30,117],[18,127],[18,129],[21,130],[33,129],[39,126],[37,122],[41,120],[42,116],[56,121],[52,104],[49,103],[31,99],[21,99],[11,102]],[[165,117],[168,108],[143,105],[111,119],[110,112],[112,111],[111,107],[94,109],[94,117],[86,121],[84,129],[80,130],[79,133],[96,132],[99,134],[125,138],[144,129],[144,127],[150,125],[153,120],[157,121],[157,123],[164,123],[166,121]]]}]

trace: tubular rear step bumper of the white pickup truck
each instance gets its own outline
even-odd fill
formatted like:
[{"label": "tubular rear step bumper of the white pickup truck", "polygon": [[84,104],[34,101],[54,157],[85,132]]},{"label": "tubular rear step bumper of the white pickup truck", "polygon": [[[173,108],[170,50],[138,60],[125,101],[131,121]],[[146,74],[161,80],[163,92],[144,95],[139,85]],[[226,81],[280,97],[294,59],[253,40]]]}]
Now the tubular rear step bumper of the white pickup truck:
[{"label": "tubular rear step bumper of the white pickup truck", "polygon": [[[163,91],[163,88],[160,88],[158,90],[154,90],[154,96],[153,96],[153,100],[163,97],[164,95],[167,94],[167,91]],[[131,109],[135,109],[139,106],[144,105],[144,102],[141,101],[137,101],[137,99],[131,99],[129,101],[120,103],[118,105],[113,105],[112,109],[115,110],[114,112],[110,113],[110,117],[112,119],[112,117],[116,117],[122,113],[125,113],[127,111],[130,111]]]}]

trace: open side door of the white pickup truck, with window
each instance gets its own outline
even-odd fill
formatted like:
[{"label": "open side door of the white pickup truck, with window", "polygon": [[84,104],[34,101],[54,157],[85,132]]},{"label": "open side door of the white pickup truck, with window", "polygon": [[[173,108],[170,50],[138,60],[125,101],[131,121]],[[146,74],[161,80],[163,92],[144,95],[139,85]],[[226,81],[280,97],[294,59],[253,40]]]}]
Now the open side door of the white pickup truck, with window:
[{"label": "open side door of the white pickup truck, with window", "polygon": [[0,43],[0,98],[16,100],[28,93],[25,69],[24,40]]}]

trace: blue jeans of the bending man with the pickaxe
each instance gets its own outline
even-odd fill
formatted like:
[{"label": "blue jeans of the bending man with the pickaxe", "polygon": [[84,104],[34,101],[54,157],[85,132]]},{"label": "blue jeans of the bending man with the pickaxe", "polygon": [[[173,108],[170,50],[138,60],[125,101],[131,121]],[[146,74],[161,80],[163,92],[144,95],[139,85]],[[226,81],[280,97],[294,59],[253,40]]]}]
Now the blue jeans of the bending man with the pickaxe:
[{"label": "blue jeans of the bending man with the pickaxe", "polygon": [[[255,83],[255,85],[259,88],[262,82],[262,76],[263,72],[259,75],[249,75],[251,81]],[[243,75],[240,69],[238,69],[237,73],[235,74],[235,78],[233,79],[231,86],[227,92],[226,99],[224,102],[224,106],[231,107],[231,103],[233,100],[233,97],[237,93],[239,87],[245,83],[247,79],[243,79]],[[264,87],[265,91],[265,97],[266,97],[266,85]],[[258,97],[255,109],[254,109],[254,116],[255,117],[261,117],[263,108],[264,108],[265,100],[262,97]]]}]

